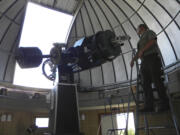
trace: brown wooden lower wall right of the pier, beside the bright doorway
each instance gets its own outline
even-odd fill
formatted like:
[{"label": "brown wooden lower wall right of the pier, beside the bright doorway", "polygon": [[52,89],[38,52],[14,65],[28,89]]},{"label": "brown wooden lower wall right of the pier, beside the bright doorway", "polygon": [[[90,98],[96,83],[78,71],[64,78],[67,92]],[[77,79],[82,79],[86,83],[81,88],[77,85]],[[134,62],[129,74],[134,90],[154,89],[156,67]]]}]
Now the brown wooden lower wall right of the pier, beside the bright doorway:
[{"label": "brown wooden lower wall right of the pier, beside the bright doorway", "polygon": [[[131,111],[135,111],[131,108]],[[108,113],[109,110],[107,111]],[[100,123],[100,115],[104,114],[104,110],[96,109],[96,110],[82,110],[80,111],[80,116],[84,114],[85,120],[80,121],[81,132],[84,135],[101,135],[101,132],[97,134],[98,127]],[[147,113],[147,120],[149,127],[165,127],[163,129],[153,129],[150,130],[150,135],[158,134],[158,135],[176,135],[171,114],[169,111],[160,112],[160,113]],[[139,127],[144,127],[144,115],[141,114],[139,117]],[[100,129],[101,130],[101,129]],[[139,130],[139,135],[144,135],[144,129]]]}]

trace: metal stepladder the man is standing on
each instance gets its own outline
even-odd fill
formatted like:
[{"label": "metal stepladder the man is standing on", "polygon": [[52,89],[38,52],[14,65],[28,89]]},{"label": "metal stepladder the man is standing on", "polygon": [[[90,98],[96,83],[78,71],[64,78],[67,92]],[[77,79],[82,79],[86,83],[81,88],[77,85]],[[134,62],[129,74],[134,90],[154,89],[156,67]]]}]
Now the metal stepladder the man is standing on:
[{"label": "metal stepladder the man is standing on", "polygon": [[[136,50],[133,49],[132,50],[132,57],[133,55],[136,54]],[[124,129],[109,129],[107,131],[107,135],[116,135],[117,131],[123,132],[124,131],[124,135],[128,135],[128,120],[129,120],[129,111],[130,111],[130,102],[131,102],[131,97],[133,97],[134,102],[136,104],[136,120],[135,120],[135,135],[139,135],[139,130],[144,130],[145,131],[145,135],[150,135],[150,133],[152,133],[153,135],[156,135],[155,132],[153,131],[153,129],[165,129],[165,128],[175,128],[176,130],[176,135],[180,135],[180,130],[177,124],[177,120],[176,120],[176,116],[174,113],[174,108],[172,105],[172,99],[170,96],[170,92],[169,92],[169,88],[167,88],[167,92],[168,92],[168,97],[169,97],[169,105],[170,105],[170,113],[172,116],[172,120],[173,120],[173,125],[174,127],[167,127],[167,126],[150,126],[148,119],[147,119],[147,113],[143,113],[144,115],[144,127],[139,127],[139,116],[140,116],[140,112],[139,112],[139,105],[140,105],[140,78],[139,78],[139,65],[138,62],[136,61],[136,69],[137,69],[137,84],[136,84],[136,95],[134,95],[133,91],[132,91],[132,87],[131,87],[131,83],[132,83],[132,68],[131,68],[131,74],[130,74],[130,88],[129,88],[129,93],[128,93],[128,107],[127,107],[127,117],[126,117],[126,128]],[[167,75],[166,75],[167,76]],[[123,102],[124,104],[124,102]],[[110,110],[112,109],[111,107],[111,103],[110,105]],[[111,117],[112,117],[112,113],[111,113]],[[113,119],[112,119],[112,124],[113,124]]]}]

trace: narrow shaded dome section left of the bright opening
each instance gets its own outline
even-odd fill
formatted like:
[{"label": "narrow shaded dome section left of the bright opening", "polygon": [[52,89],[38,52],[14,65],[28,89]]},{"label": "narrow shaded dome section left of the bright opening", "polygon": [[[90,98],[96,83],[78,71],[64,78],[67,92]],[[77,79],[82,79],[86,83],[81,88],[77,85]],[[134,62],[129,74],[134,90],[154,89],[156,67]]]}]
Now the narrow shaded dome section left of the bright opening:
[{"label": "narrow shaded dome section left of the bright opening", "polygon": [[6,0],[0,3],[0,81],[13,81],[14,53],[18,47],[25,6],[25,0]]}]

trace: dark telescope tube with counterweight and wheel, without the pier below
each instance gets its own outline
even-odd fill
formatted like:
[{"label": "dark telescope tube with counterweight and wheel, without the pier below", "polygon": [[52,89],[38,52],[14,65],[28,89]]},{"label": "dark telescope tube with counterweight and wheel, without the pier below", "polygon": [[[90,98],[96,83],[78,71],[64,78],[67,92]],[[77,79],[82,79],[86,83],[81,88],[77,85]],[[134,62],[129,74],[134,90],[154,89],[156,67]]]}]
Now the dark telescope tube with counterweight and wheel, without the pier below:
[{"label": "dark telescope tube with counterweight and wheel, without the pier below", "polygon": [[[42,66],[43,74],[54,81],[57,68],[61,75],[71,74],[112,61],[120,55],[121,46],[126,40],[130,40],[130,36],[116,36],[110,30],[99,31],[79,39],[67,49],[65,43],[54,43],[48,55],[43,55],[37,47],[20,47],[16,60],[21,68],[34,68],[46,58]],[[46,71],[47,66],[50,68],[49,74]]]}]

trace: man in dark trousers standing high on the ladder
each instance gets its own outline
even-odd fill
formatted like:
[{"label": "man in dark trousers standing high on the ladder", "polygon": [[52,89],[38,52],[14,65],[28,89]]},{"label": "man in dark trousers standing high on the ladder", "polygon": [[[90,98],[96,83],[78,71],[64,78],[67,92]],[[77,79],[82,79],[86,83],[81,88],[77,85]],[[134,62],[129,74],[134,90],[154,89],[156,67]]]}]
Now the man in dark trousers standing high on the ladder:
[{"label": "man in dark trousers standing high on the ladder", "polygon": [[152,83],[157,89],[162,108],[167,109],[168,97],[166,88],[162,81],[162,63],[159,58],[159,48],[157,45],[157,36],[145,24],[140,24],[137,28],[137,34],[140,40],[137,44],[138,52],[132,59],[130,66],[134,66],[137,59],[141,59],[141,80],[145,97],[144,111],[150,112],[154,109]]}]

